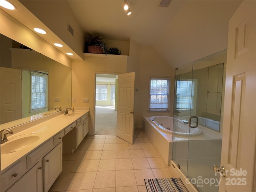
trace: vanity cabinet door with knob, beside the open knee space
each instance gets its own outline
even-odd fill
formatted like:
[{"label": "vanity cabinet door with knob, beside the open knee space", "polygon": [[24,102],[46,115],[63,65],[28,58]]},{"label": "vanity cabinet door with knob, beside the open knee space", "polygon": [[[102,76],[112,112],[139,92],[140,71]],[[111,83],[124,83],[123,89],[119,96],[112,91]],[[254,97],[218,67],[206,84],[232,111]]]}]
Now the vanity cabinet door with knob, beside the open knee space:
[{"label": "vanity cabinet door with knob, beside the open knee space", "polygon": [[44,192],[48,192],[62,172],[62,142],[43,158]]}]

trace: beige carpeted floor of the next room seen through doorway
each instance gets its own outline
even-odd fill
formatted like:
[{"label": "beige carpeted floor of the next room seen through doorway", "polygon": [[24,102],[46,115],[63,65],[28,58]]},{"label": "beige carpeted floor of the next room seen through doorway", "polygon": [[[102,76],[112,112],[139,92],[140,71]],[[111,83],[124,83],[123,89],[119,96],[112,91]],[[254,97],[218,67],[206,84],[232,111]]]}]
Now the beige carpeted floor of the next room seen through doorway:
[{"label": "beige carpeted floor of the next room seen through doorway", "polygon": [[116,111],[114,106],[95,107],[95,134],[116,134]]}]

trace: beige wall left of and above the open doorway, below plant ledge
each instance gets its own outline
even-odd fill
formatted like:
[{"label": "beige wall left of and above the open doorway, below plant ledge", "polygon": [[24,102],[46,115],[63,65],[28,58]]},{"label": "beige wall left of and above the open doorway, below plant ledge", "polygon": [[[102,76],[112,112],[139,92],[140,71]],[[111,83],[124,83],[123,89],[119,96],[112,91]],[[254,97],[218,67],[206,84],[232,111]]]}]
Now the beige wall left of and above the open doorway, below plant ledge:
[{"label": "beige wall left of and above the open doorway, below plant ledge", "polygon": [[[127,57],[84,55],[84,61],[72,62],[72,98],[76,98],[76,102],[72,102],[72,107],[90,108],[89,134],[94,134],[96,74],[126,73]],[[84,103],[83,98],[88,98],[89,102]]]}]

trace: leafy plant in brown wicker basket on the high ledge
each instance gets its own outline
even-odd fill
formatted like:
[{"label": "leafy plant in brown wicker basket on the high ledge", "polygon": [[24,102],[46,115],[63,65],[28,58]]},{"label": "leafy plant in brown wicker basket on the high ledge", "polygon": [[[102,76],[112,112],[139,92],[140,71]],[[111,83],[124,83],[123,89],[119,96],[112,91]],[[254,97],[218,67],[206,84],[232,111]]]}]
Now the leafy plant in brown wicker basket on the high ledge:
[{"label": "leafy plant in brown wicker basket on the high ledge", "polygon": [[107,41],[104,41],[101,36],[87,35],[86,38],[89,53],[108,53]]}]

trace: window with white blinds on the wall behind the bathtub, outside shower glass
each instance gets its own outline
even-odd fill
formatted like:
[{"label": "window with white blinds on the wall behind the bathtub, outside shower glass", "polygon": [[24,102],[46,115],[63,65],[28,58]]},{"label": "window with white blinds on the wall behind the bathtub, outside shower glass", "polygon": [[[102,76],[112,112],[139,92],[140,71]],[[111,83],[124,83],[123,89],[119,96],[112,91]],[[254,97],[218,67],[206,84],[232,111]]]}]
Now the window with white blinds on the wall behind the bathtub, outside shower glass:
[{"label": "window with white blinds on the wall behind the bathtub, outside shower glass", "polygon": [[170,78],[150,79],[149,111],[170,111]]}]

